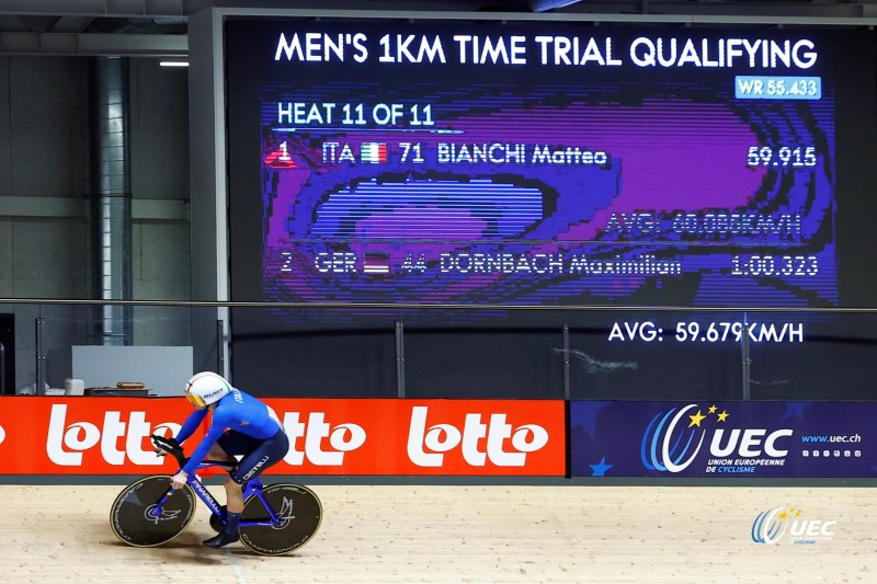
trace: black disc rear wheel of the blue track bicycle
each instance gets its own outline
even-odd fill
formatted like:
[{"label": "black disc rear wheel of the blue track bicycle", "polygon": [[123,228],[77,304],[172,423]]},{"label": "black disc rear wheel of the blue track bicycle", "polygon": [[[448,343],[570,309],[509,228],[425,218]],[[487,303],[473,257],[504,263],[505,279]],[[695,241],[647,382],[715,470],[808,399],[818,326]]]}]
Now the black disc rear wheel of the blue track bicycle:
[{"label": "black disc rear wheel of the blue track bicycle", "polygon": [[265,486],[243,505],[240,520],[271,522],[267,504],[278,518],[273,525],[240,528],[240,541],[262,556],[280,556],[297,550],[311,540],[320,528],[322,504],[317,494],[300,484],[278,483]]}]

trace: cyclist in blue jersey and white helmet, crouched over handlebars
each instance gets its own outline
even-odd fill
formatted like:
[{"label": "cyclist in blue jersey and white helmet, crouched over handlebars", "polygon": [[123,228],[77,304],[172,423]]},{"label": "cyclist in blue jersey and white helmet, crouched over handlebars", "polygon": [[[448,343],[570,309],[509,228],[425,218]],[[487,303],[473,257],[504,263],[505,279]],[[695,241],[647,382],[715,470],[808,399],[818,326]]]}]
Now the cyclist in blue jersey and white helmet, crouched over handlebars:
[{"label": "cyclist in blue jersey and white helmet, crouched over handlebars", "polygon": [[[189,462],[171,478],[174,489],[185,485],[189,474],[205,459],[236,462],[223,481],[226,490],[227,522],[225,529],[206,541],[221,548],[240,539],[238,524],[243,511],[243,484],[283,459],[289,440],[277,414],[265,403],[231,387],[212,371],[195,374],[185,386],[185,397],[195,406],[174,437],[183,444],[213,412],[207,434],[192,453]],[[159,449],[159,454],[166,454]],[[242,457],[238,461],[235,457]]]}]

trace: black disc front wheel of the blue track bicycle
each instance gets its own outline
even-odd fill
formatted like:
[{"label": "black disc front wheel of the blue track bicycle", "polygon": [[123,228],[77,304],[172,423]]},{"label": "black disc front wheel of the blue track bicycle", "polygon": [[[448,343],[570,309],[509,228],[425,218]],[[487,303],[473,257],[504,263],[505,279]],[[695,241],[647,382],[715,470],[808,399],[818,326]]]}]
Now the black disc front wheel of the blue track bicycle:
[{"label": "black disc front wheel of the blue track bicycle", "polygon": [[155,515],[170,486],[170,474],[153,474],[126,486],[110,509],[110,527],[116,537],[128,546],[151,548],[179,536],[192,522],[195,492],[187,484],[174,491]]}]

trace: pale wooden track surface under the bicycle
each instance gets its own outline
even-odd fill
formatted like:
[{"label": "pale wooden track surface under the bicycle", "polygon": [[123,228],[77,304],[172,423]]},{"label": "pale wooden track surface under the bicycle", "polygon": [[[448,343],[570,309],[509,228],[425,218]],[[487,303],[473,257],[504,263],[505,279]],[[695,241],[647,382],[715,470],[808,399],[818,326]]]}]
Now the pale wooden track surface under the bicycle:
[{"label": "pale wooden track surface under the bicycle", "polygon": [[[176,540],[128,547],[109,525],[121,489],[0,485],[0,582],[877,582],[866,488],[318,485],[317,537],[273,558],[203,547],[203,504]],[[832,535],[754,542],[776,507]]]}]

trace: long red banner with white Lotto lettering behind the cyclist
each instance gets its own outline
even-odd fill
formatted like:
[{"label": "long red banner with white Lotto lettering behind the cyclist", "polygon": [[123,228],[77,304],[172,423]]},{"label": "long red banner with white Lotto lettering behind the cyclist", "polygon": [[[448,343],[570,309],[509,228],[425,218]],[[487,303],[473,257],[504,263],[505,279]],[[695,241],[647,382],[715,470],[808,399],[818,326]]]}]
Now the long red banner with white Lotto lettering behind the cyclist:
[{"label": "long red banner with white Lotto lettering behind the cyclist", "polygon": [[[275,474],[563,476],[560,400],[266,399],[289,436]],[[182,398],[0,398],[10,474],[170,473]],[[194,449],[197,435],[186,451]],[[169,457],[170,458],[170,457]]]}]

